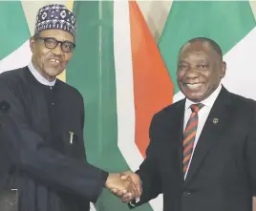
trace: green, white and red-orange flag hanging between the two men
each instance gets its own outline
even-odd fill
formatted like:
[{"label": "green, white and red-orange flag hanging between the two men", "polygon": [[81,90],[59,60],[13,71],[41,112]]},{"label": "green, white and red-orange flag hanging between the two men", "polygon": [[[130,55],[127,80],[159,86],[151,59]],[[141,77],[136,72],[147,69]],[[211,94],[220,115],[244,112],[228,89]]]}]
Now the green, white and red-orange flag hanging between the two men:
[{"label": "green, white and red-orange flag hanging between the two men", "polygon": [[[135,1],[79,1],[67,83],[83,95],[88,160],[109,172],[133,171],[145,156],[152,116],[172,103],[173,84]],[[162,210],[159,199],[138,208]],[[129,210],[108,191],[96,210]]]}]

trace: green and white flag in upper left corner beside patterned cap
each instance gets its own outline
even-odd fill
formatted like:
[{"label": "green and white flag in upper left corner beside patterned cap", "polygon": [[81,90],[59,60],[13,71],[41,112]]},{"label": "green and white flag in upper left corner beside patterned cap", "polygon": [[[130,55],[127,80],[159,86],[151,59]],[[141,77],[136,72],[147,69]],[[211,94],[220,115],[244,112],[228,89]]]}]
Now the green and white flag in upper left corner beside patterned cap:
[{"label": "green and white flag in upper left corner beside patterned cap", "polygon": [[30,31],[20,1],[0,1],[0,73],[31,60]]}]

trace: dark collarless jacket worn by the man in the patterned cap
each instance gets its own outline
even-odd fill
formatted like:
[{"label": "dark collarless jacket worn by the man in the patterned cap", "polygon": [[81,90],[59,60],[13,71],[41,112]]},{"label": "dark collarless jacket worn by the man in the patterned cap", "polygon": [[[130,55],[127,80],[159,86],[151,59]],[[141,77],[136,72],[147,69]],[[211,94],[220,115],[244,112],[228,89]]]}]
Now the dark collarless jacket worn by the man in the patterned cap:
[{"label": "dark collarless jacket worn by the man in the patterned cap", "polygon": [[0,74],[0,102],[11,105],[0,120],[0,191],[18,189],[20,211],[88,211],[108,173],[86,161],[81,95],[60,80],[53,89],[27,67]]}]

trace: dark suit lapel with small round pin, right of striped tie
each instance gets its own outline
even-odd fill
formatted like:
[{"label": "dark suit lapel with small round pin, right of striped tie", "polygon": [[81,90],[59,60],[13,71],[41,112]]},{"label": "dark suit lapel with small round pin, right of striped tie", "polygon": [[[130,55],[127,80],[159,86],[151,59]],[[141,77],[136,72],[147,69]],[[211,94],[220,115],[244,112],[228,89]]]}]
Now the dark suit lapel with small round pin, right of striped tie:
[{"label": "dark suit lapel with small round pin, right of striped tie", "polygon": [[220,137],[223,135],[224,128],[229,123],[228,116],[230,110],[228,109],[228,105],[231,105],[229,93],[223,87],[203,126],[203,131],[190,163],[185,184],[198,172],[203,159],[207,156],[213,145],[221,139]]}]

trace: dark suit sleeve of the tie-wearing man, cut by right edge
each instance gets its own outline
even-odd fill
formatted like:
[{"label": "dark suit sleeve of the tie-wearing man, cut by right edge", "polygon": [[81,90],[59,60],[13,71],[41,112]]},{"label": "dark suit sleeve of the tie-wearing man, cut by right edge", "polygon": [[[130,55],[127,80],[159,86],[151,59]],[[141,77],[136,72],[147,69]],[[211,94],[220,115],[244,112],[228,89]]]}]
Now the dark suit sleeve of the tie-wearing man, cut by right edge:
[{"label": "dark suit sleeve of the tie-wearing man, cut by right edge", "polygon": [[252,120],[245,146],[246,166],[249,178],[250,189],[252,194],[256,196],[256,104],[253,103],[251,114]]}]

